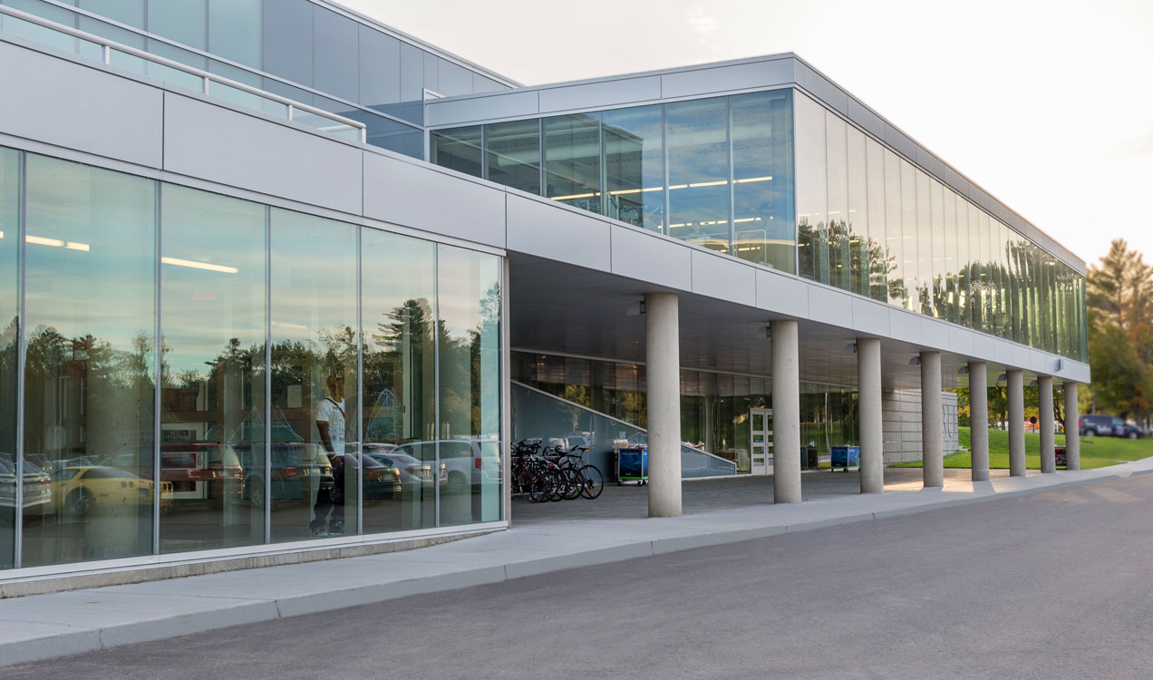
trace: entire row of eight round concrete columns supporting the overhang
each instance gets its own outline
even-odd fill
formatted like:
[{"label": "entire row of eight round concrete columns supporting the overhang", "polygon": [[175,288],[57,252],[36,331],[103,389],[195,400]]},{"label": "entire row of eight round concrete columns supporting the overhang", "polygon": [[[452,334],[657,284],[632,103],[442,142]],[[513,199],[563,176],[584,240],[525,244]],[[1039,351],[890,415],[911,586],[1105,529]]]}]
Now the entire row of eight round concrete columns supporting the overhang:
[{"label": "entire row of eight round concrete columns supporting the overhang", "polygon": [[[646,363],[648,369],[649,516],[680,514],[680,346],[675,293],[645,296]],[[800,370],[797,322],[771,322],[774,503],[800,503]],[[944,485],[941,353],[921,352],[921,455],[926,488]],[[969,362],[972,478],[989,478],[988,378],[985,362]],[[1005,371],[1009,385],[1009,474],[1025,475],[1024,373]],[[881,340],[857,340],[860,415],[860,490],[884,490],[884,439],[881,417]],[[1053,377],[1038,378],[1041,430],[1041,473],[1056,471],[1053,437]],[[1080,469],[1077,436],[1077,383],[1064,383],[1065,460]]]}]

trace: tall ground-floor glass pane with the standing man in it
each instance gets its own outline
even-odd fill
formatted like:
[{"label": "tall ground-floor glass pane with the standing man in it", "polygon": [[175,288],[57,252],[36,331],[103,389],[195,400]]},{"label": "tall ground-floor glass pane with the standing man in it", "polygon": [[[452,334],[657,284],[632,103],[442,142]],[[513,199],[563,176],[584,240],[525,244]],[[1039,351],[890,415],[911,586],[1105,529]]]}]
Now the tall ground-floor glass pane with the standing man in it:
[{"label": "tall ground-floor glass pane with the standing man in it", "polygon": [[356,227],[272,209],[272,541],[356,527]]}]

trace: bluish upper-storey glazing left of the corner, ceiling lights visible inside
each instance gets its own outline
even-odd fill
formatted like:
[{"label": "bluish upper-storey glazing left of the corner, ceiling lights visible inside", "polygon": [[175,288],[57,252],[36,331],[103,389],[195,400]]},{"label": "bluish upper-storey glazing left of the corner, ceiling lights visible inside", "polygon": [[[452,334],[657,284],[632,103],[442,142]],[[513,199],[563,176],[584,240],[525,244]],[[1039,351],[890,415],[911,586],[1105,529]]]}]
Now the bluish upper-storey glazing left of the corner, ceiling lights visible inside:
[{"label": "bluish upper-storey glazing left of the corner, ceiling lights visible inside", "polygon": [[429,160],[793,273],[792,91],[432,130]]}]

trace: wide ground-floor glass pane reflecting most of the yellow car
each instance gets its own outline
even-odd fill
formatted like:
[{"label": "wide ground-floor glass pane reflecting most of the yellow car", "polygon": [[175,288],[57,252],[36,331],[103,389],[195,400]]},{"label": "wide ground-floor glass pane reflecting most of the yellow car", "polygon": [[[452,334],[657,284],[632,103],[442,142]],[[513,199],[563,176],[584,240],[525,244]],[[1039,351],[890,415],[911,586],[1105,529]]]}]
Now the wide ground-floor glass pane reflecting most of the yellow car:
[{"label": "wide ground-floor glass pane reflecting most of the yellow car", "polygon": [[[156,182],[32,154],[27,172],[24,479],[52,503],[25,511],[23,566],[150,554]],[[110,467],[130,476],[84,478]]]}]

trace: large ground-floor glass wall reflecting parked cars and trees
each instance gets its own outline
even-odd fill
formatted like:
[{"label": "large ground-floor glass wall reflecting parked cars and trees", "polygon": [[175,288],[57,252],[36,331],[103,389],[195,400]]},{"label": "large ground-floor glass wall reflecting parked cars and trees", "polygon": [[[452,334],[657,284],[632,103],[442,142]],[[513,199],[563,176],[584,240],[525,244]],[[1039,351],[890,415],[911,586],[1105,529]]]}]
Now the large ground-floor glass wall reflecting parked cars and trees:
[{"label": "large ground-floor glass wall reflecting parked cars and trees", "polygon": [[500,520],[502,277],[0,148],[0,568]]}]

